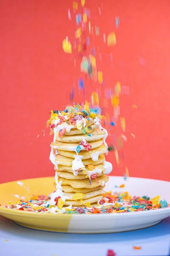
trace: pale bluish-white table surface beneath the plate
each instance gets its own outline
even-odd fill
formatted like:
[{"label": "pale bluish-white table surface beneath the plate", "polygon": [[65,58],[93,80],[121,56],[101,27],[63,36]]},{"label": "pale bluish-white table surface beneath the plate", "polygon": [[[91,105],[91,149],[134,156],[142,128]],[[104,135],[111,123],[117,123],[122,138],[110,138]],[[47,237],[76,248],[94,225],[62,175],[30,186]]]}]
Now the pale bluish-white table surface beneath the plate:
[{"label": "pale bluish-white table surface beneath the plate", "polygon": [[31,230],[0,216],[0,256],[108,256],[108,249],[116,256],[170,255],[170,218],[142,230],[86,235]]}]

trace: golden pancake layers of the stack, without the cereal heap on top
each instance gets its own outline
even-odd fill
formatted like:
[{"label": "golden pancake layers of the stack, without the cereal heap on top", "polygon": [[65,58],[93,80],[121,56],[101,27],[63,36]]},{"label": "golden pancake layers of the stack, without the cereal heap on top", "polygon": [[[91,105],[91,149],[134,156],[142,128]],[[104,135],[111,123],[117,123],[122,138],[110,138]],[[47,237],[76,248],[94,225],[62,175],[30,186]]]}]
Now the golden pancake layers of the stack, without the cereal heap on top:
[{"label": "golden pancake layers of the stack, without the cereal heap on top", "polygon": [[[105,129],[100,129],[99,124],[95,124],[94,119],[90,119],[90,121],[86,120],[83,129],[72,125],[68,130],[70,132],[65,131],[62,136],[58,133],[51,143],[51,152],[55,156],[55,163],[52,163],[66,198],[64,205],[81,206],[87,202],[95,204],[102,199],[102,194],[105,193],[103,188],[108,181],[108,176],[103,173],[105,172],[104,153],[108,152]],[[90,151],[82,146],[82,141],[91,145]],[[77,152],[79,145],[81,150]],[[76,170],[73,167],[75,165]],[[95,178],[91,176],[92,173],[95,174]]]}]

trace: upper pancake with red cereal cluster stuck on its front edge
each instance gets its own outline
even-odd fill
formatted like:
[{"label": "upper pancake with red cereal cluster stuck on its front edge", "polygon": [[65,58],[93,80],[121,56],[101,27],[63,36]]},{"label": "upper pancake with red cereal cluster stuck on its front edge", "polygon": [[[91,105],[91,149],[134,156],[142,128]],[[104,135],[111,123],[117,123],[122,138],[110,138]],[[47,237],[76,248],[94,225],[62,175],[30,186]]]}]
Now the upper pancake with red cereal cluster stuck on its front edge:
[{"label": "upper pancake with red cereal cluster stuck on its front edge", "polygon": [[[91,144],[91,148],[98,148],[100,145],[102,145],[103,140],[96,140],[96,141],[92,141]],[[77,146],[79,145],[79,143],[65,143],[65,142],[61,142],[61,141],[56,141],[56,142],[52,142],[51,143],[51,148],[57,148],[59,150],[64,150],[64,151],[76,151]],[[82,149],[81,151],[84,151],[85,149]]]}]

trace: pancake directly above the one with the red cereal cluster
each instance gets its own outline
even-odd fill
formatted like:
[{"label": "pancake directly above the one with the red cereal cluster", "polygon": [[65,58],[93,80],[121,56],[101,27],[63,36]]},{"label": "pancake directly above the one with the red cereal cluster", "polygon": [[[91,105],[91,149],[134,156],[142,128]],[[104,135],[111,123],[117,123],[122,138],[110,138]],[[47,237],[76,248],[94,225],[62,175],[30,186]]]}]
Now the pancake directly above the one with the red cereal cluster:
[{"label": "pancake directly above the one with the red cereal cluster", "polygon": [[57,137],[57,140],[65,142],[65,143],[76,143],[80,142],[83,139],[87,142],[95,141],[95,140],[100,140],[105,137],[105,132],[104,131],[94,131],[92,136],[84,135],[84,134],[79,134],[79,135],[71,135],[71,136],[65,136],[63,135],[62,137]]}]

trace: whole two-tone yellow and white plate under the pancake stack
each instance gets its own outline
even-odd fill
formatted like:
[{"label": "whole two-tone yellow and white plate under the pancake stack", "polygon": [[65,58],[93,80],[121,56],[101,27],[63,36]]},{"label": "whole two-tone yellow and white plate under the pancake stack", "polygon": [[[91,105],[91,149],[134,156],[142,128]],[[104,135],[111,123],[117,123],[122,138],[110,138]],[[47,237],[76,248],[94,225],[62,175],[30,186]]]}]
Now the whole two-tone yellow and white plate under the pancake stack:
[{"label": "whole two-tone yellow and white plate under the pancake stack", "polygon": [[[150,211],[124,212],[119,214],[54,214],[47,212],[26,212],[4,208],[3,204],[15,202],[15,195],[30,198],[31,195],[45,195],[54,191],[54,177],[35,178],[0,184],[0,214],[17,224],[31,229],[65,233],[113,233],[150,227],[170,216],[170,207]],[[120,185],[123,177],[110,176],[105,190],[111,191]],[[130,177],[121,191],[130,195],[160,195],[170,202],[170,182]],[[120,191],[118,188],[118,191]]]}]

